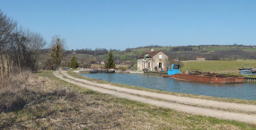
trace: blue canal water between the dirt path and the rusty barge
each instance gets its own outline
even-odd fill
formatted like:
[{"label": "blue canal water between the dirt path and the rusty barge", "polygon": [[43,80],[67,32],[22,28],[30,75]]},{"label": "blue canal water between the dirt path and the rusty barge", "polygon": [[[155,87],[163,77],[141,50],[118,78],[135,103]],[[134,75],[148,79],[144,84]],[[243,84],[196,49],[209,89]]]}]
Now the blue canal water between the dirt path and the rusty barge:
[{"label": "blue canal water between the dirt path and the rusty barge", "polygon": [[128,84],[149,89],[172,91],[220,98],[256,100],[255,83],[187,82],[147,74],[81,74],[93,79]]}]

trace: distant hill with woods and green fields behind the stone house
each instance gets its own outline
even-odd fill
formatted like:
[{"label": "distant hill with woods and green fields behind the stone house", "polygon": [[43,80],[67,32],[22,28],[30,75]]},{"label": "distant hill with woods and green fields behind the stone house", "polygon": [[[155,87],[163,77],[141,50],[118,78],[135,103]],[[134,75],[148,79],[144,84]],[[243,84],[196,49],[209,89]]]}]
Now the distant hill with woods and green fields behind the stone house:
[{"label": "distant hill with woods and green fields behind the stone house", "polygon": [[[116,63],[132,64],[137,63],[137,56],[146,51],[150,51],[153,46],[127,48],[125,50],[112,49]],[[256,59],[256,46],[243,45],[199,45],[199,46],[157,46],[154,50],[163,50],[163,52],[172,58],[178,58],[180,61],[195,60],[197,56],[204,56],[206,60],[237,60],[237,59]],[[81,48],[76,50],[66,50],[66,58],[68,61],[73,55],[81,63],[100,64],[106,61],[109,50],[106,48]],[[49,55],[50,50],[44,49],[42,55]],[[171,61],[170,60],[170,61]]]}]

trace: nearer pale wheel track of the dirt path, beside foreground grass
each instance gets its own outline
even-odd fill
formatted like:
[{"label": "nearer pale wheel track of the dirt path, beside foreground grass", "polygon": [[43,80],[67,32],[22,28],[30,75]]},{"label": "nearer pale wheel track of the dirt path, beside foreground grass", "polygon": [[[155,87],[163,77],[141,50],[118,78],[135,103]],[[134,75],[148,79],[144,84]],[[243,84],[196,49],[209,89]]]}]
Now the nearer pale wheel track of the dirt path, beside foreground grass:
[{"label": "nearer pale wheel track of the dirt path, beside foreground grass", "polygon": [[[118,98],[124,98],[124,99],[128,99],[128,100],[136,100],[136,101],[149,103],[149,104],[159,106],[159,107],[163,107],[163,108],[172,108],[174,110],[178,110],[178,111],[182,111],[182,112],[188,112],[188,113],[193,114],[193,115],[217,117],[217,118],[222,118],[222,119],[236,120],[236,121],[256,124],[256,115],[248,115],[248,114],[244,114],[244,113],[233,113],[233,112],[227,112],[227,111],[224,111],[224,110],[216,110],[216,109],[211,109],[211,108],[199,108],[199,107],[193,107],[193,106],[188,106],[188,105],[184,105],[184,104],[177,104],[175,102],[166,102],[166,101],[162,101],[162,100],[146,99],[146,98],[143,98],[143,97],[126,94],[126,93],[119,92],[119,91],[110,91],[110,90],[102,89],[102,88],[99,88],[99,87],[93,87],[93,86],[90,86],[88,84],[81,83],[80,81],[83,81],[82,79],[81,80],[75,79],[75,81],[65,79],[61,75],[57,74],[57,72],[55,73],[55,75],[58,78],[60,78],[62,80],[65,80],[66,82],[75,83],[76,85],[83,86],[87,89],[90,89],[90,90],[93,90],[93,91],[100,91],[102,93],[107,93],[107,94],[110,94],[110,95],[114,95]],[[64,76],[68,76],[68,75],[66,75],[66,73],[64,73]],[[70,77],[70,76],[68,76],[68,77]],[[79,82],[77,82],[76,80],[78,80]],[[102,84],[102,85],[104,85],[104,84]],[[209,103],[211,103],[210,100],[208,100],[208,101],[209,101]],[[226,103],[226,104],[228,106],[229,103]],[[256,106],[253,106],[253,107],[256,107]]]}]

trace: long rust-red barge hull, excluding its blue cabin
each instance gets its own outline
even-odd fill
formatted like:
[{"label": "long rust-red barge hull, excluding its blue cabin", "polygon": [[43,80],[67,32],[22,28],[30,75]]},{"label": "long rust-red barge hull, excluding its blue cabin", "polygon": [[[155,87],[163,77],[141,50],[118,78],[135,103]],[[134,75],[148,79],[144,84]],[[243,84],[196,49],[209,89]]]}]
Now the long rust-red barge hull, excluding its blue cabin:
[{"label": "long rust-red barge hull, excluding its blue cabin", "polygon": [[211,82],[211,83],[241,83],[243,77],[225,75],[225,74],[212,74],[212,75],[193,75],[193,74],[175,74],[175,79],[195,81],[195,82]]}]

